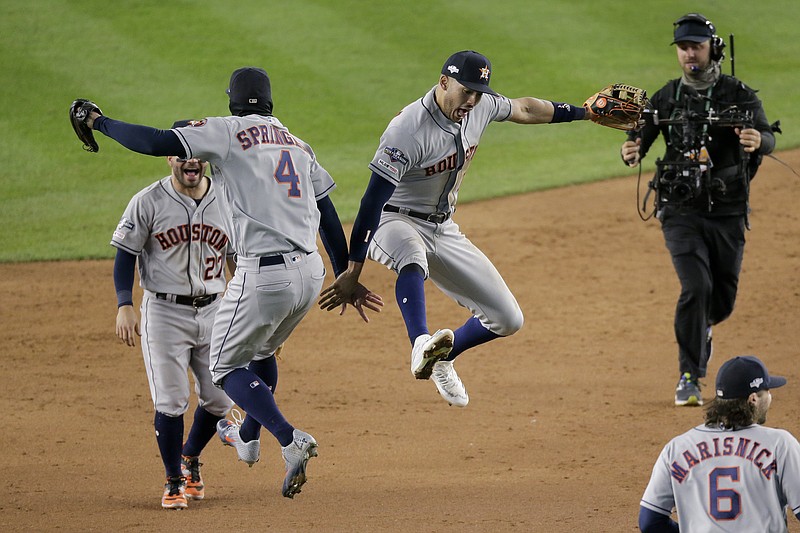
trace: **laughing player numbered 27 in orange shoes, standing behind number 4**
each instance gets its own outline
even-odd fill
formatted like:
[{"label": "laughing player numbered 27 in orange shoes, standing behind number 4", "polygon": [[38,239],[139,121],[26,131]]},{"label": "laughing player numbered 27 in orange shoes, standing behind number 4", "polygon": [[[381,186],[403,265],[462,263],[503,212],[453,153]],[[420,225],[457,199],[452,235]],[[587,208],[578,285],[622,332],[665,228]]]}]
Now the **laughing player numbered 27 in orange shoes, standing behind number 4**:
[{"label": "laughing player numbered 27 in orange shoes, standing behind number 4", "polygon": [[[185,124],[188,121],[175,123]],[[204,497],[200,452],[233,406],[211,383],[208,369],[211,326],[225,290],[226,257],[233,251],[215,188],[205,176],[206,162],[177,157],[168,157],[167,162],[170,175],[131,199],[111,245],[117,248],[117,336],[128,346],[136,346],[136,336],[140,332],[142,336],[156,441],[167,476],[161,505],[183,509],[187,498]],[[132,295],[137,263],[144,289],[141,329]],[[198,405],[182,444],[189,369]]]}]

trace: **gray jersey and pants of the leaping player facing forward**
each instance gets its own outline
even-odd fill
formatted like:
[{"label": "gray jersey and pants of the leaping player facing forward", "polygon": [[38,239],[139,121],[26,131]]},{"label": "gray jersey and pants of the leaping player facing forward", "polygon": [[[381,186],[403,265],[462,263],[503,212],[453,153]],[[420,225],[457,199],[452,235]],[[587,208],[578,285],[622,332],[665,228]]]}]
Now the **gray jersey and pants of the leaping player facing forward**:
[{"label": "gray jersey and pants of the leaping player facing forward", "polygon": [[[396,185],[389,205],[450,217],[481,135],[492,121],[511,116],[511,101],[484,94],[459,124],[441,112],[434,91],[389,123],[370,169]],[[445,294],[498,335],[522,327],[522,311],[500,273],[452,218],[435,223],[384,212],[368,253],[395,272],[420,265]]]}]

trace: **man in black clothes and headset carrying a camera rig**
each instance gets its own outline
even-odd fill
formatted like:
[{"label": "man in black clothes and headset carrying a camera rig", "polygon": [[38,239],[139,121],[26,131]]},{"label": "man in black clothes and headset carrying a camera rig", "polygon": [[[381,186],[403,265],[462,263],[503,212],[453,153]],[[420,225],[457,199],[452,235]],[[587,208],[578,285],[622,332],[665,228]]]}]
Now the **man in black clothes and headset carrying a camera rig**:
[{"label": "man in black clothes and headset carrying a camera rig", "polygon": [[755,91],[721,73],[725,43],[714,25],[689,13],[674,26],[682,76],[653,95],[653,113],[628,134],[620,155],[636,166],[659,134],[666,143],[651,186],[681,283],[675,405],[702,405],[698,379],[711,357],[711,326],[730,316],[736,300],[750,180],[775,136]]}]

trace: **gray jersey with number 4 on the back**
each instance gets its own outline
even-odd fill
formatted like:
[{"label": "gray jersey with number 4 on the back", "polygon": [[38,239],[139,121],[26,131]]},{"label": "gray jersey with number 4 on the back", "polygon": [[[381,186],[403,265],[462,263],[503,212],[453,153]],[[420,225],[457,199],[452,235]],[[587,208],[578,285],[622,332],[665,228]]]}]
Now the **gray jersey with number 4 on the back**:
[{"label": "gray jersey with number 4 on the back", "polygon": [[211,163],[220,212],[239,257],[317,249],[316,202],[335,184],[311,147],[277,118],[212,117],[173,131],[189,157]]}]

